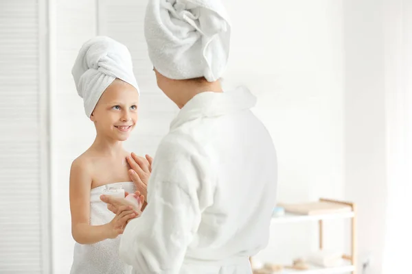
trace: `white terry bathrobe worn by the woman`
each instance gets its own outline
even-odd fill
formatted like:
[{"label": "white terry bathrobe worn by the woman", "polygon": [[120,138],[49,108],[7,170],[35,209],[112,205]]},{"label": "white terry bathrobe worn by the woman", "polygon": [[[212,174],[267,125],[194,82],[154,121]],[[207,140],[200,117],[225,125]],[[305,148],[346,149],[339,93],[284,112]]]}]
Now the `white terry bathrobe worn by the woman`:
[{"label": "white terry bathrobe worn by the woman", "polygon": [[161,141],[148,206],[126,226],[120,256],[135,273],[250,274],[266,247],[277,161],[249,90],[203,92]]}]

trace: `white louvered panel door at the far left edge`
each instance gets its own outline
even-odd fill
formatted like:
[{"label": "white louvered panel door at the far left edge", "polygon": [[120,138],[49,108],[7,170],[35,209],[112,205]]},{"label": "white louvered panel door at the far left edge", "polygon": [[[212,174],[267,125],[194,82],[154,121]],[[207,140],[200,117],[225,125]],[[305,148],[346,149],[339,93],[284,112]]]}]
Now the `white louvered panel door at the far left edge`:
[{"label": "white louvered panel door at the far left edge", "polygon": [[0,1],[0,273],[49,273],[47,7]]}]

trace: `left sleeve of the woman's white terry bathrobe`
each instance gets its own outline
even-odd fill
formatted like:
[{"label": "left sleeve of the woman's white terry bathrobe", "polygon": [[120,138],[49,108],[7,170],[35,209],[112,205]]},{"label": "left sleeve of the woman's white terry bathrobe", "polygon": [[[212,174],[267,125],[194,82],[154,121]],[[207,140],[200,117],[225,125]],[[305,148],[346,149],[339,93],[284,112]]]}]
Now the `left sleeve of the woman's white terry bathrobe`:
[{"label": "left sleeve of the woman's white terry bathrobe", "polygon": [[179,273],[188,245],[212,203],[209,162],[190,140],[166,136],[153,162],[148,206],[126,226],[121,258],[137,273]]}]

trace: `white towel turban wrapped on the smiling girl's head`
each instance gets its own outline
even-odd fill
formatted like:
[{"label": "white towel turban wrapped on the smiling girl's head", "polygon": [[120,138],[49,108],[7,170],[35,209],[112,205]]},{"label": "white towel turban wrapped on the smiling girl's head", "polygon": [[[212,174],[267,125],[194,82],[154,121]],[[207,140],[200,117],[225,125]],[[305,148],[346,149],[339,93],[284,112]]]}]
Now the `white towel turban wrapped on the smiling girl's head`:
[{"label": "white towel turban wrapped on the smiling girl's head", "polygon": [[127,47],[105,36],[97,36],[84,43],[71,74],[78,94],[84,100],[84,110],[88,117],[104,90],[116,78],[134,86],[139,92]]}]

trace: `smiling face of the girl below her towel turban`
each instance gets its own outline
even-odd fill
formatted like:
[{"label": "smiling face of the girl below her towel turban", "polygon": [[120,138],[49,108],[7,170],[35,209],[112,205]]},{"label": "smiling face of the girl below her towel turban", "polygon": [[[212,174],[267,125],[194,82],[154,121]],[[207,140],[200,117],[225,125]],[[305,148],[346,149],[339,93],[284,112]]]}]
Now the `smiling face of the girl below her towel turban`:
[{"label": "smiling face of the girl below her towel turban", "polygon": [[112,140],[127,140],[137,122],[137,105],[137,90],[130,84],[115,79],[104,90],[90,116],[98,135]]}]

